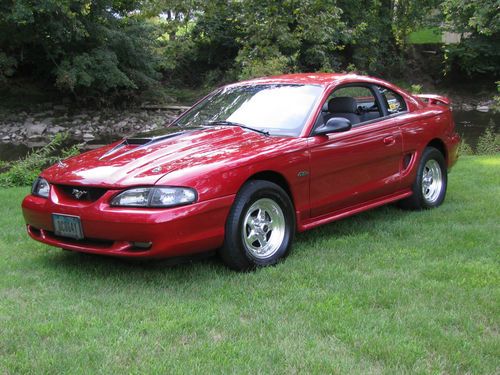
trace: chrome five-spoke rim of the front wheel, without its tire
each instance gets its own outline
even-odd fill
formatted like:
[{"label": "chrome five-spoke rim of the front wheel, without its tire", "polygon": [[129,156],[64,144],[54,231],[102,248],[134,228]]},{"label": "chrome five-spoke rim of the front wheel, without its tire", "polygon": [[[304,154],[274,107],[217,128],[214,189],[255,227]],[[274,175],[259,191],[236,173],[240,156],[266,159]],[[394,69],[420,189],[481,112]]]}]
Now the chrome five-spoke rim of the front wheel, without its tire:
[{"label": "chrome five-spoke rim of the front wheel, without its tire", "polygon": [[255,201],[245,214],[241,236],[253,257],[273,256],[285,237],[285,215],[279,204],[269,198]]}]

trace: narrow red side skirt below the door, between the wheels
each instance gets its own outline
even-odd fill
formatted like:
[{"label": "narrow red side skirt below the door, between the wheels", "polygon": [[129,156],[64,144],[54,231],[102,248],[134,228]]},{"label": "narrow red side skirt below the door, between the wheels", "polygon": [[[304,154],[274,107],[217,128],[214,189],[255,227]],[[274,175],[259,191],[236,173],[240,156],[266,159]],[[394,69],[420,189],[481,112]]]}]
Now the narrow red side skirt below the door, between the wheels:
[{"label": "narrow red side skirt below the door, between the wheels", "polygon": [[317,226],[323,225],[330,223],[335,220],[340,220],[345,217],[355,215],[357,213],[363,212],[370,210],[375,207],[383,206],[384,204],[388,204],[391,202],[398,201],[400,199],[409,197],[412,194],[410,189],[399,191],[397,193],[391,194],[391,195],[386,195],[382,198],[377,198],[368,202],[364,202],[361,204],[357,204],[355,206],[347,207],[342,210],[338,210],[335,212],[332,212],[330,214],[318,216],[312,219],[305,220],[301,223],[298,223],[297,225],[297,230],[299,232],[303,232],[308,229],[315,228]]}]

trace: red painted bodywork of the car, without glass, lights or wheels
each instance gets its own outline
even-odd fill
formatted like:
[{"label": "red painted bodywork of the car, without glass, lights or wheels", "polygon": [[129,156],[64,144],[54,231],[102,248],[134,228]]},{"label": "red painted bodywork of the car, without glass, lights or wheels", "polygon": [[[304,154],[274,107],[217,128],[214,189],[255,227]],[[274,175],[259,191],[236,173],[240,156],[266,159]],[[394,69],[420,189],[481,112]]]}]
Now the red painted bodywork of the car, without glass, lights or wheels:
[{"label": "red painted bodywork of the car, without glass, lights or wheels", "polygon": [[[354,82],[397,92],[408,111],[347,132],[311,136],[329,93]],[[388,82],[351,74],[293,74],[234,85],[260,83],[324,88],[299,137],[221,126],[180,131],[145,146],[116,142],[89,151],[42,172],[51,183],[50,196],[24,199],[28,233],[49,245],[81,252],[141,258],[193,254],[222,245],[235,196],[256,174],[273,173],[286,181],[297,229],[302,231],[410,195],[420,155],[431,142],[444,147],[450,168],[457,160],[460,139],[451,110],[443,105],[448,104],[446,98],[426,96],[424,102]],[[110,206],[126,188],[153,185],[191,187],[198,200],[166,209]],[[94,201],[78,201],[64,186],[105,192]],[[55,236],[54,213],[80,217],[85,239]],[[141,249],[133,242],[151,242],[151,247]]]}]

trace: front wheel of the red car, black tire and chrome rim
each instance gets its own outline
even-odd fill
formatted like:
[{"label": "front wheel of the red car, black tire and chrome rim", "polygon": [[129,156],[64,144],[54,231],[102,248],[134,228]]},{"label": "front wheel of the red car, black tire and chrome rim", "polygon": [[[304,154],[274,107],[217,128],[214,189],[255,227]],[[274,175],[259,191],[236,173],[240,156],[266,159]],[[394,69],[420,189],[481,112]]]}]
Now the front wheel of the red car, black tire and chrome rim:
[{"label": "front wheel of the red car, black tire and chrome rim", "polygon": [[236,195],[219,255],[237,271],[276,264],[288,255],[294,235],[288,194],[272,182],[251,180]]}]

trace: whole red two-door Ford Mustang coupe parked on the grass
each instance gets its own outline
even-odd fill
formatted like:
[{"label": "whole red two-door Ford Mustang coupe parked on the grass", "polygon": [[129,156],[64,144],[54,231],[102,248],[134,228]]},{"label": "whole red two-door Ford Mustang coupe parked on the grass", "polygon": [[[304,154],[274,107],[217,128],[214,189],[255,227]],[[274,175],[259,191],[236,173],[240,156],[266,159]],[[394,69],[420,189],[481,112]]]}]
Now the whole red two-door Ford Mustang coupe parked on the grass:
[{"label": "whole red two-door Ford Mustang coupe parked on the grass", "polygon": [[247,270],[286,256],[296,231],[394,201],[439,206],[458,143],[444,97],[353,74],[261,78],[44,170],[22,207],[29,235],[63,249],[218,249]]}]

